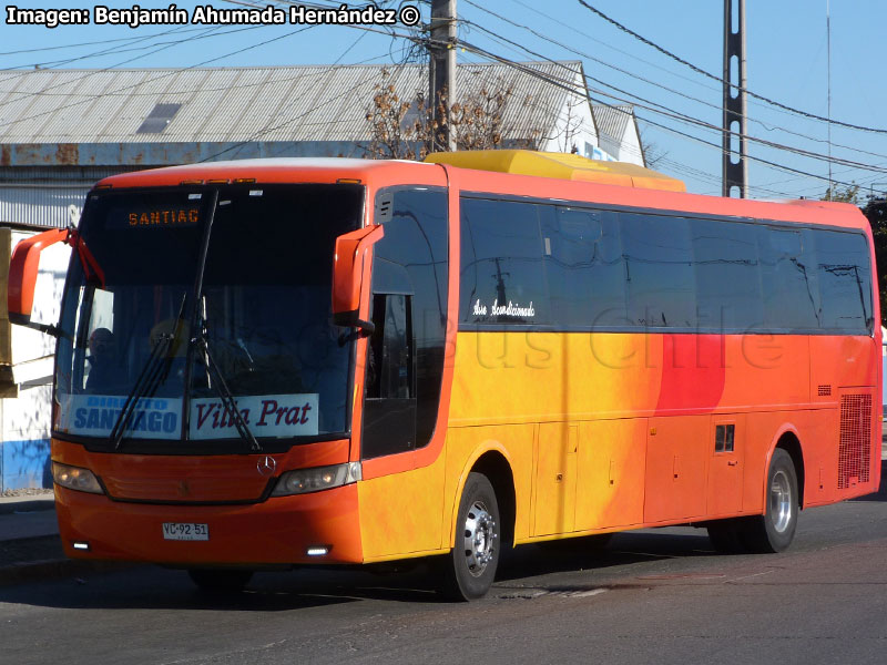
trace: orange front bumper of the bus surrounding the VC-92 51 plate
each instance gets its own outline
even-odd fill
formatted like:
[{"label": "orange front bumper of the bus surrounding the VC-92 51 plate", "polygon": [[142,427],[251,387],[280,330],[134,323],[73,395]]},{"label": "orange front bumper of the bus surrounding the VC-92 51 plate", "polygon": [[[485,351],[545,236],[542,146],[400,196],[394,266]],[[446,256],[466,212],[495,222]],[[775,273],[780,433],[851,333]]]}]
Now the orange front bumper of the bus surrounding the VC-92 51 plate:
[{"label": "orange front bumper of the bus surrounding the VC-92 51 plate", "polygon": [[[172,565],[361,563],[355,484],[244,505],[147,504],[55,488],[68,556]],[[164,539],[165,522],[206,524],[208,540]],[[89,550],[73,544],[89,543]],[[325,556],[309,556],[324,546]]]}]

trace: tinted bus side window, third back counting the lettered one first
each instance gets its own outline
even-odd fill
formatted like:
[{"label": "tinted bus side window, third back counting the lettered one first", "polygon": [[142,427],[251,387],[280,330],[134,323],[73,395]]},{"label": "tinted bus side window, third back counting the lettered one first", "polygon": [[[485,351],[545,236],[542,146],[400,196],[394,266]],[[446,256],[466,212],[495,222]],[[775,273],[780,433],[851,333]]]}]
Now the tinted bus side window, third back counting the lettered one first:
[{"label": "tinted bus side window, third back counting the lettered one first", "polygon": [[690,222],[620,213],[628,314],[635,326],[695,328],[696,296]]}]

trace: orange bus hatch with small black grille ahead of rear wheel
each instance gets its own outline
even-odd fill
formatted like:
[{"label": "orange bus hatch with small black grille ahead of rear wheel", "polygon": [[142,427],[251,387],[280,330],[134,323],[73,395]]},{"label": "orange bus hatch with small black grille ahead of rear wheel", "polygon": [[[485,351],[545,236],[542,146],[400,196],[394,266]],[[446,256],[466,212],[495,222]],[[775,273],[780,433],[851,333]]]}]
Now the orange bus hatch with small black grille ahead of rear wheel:
[{"label": "orange bus hatch with small black grille ahead of rear wheel", "polygon": [[712,417],[708,428],[706,514],[726,516],[742,510],[745,415]]}]

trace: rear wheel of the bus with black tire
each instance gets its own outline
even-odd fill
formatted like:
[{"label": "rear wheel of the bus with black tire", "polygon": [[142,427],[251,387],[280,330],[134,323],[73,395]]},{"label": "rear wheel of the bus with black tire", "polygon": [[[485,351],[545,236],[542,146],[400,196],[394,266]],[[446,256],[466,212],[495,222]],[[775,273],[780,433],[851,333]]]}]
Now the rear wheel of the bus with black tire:
[{"label": "rear wheel of the bus with black tire", "polygon": [[751,552],[783,552],[795,538],[801,501],[795,463],[782,448],[773,451],[765,501],[763,515],[746,518],[742,542]]}]

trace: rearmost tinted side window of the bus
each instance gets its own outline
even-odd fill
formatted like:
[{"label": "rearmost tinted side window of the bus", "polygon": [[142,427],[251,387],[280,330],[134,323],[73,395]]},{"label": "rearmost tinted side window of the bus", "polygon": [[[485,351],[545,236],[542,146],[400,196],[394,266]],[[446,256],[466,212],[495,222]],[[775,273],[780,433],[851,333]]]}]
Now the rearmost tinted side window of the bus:
[{"label": "rearmost tinted side window of the bus", "polygon": [[815,231],[822,327],[868,334],[871,323],[871,270],[864,236]]}]

